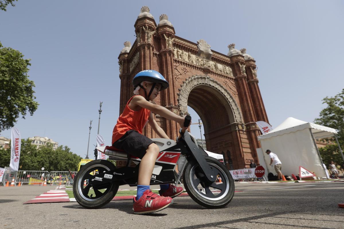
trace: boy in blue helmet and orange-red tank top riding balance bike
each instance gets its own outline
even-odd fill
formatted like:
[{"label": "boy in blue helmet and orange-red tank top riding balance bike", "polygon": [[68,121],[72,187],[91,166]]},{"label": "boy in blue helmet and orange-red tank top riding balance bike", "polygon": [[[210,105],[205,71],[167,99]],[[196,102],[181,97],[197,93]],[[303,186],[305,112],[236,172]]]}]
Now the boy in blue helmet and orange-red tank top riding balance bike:
[{"label": "boy in blue helmet and orange-red tank top riding balance bike", "polygon": [[183,126],[185,116],[180,117],[163,106],[149,102],[158,96],[159,91],[169,87],[169,83],[159,72],[143,70],[136,74],[132,84],[135,95],[129,99],[117,120],[112,133],[112,146],[141,159],[133,209],[135,214],[147,214],[168,207],[172,203],[172,198],[183,192],[183,188],[171,184],[160,185],[160,196],[150,190],[150,180],[155,160],[159,155],[159,147],[142,135],[142,129],[149,123],[161,138],[170,139],[155,122],[151,112],[179,123],[183,129],[187,127]]}]

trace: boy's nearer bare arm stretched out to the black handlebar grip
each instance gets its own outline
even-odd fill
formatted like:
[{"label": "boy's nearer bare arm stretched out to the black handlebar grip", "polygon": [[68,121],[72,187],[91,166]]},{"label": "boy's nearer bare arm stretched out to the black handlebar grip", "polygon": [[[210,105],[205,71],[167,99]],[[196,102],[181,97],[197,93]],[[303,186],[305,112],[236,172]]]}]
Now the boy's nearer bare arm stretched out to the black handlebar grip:
[{"label": "boy's nearer bare arm stretched out to the black handlebar grip", "polygon": [[179,123],[180,127],[187,129],[187,127],[184,127],[184,118],[185,117],[180,117],[179,115],[174,114],[173,112],[167,110],[165,107],[157,105],[157,104],[153,104],[149,101],[147,101],[146,99],[143,98],[143,96],[135,96],[132,100],[132,103],[146,108],[152,112],[154,112],[155,114],[158,114],[164,118],[168,118],[171,119],[177,123]]}]

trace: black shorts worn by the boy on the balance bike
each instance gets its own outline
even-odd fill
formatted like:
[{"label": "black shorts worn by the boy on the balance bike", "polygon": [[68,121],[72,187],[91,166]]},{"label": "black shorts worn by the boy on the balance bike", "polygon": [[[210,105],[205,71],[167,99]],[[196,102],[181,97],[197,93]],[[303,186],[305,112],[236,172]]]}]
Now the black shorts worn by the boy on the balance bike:
[{"label": "black shorts worn by the boy on the balance bike", "polygon": [[144,154],[146,154],[148,146],[152,143],[154,142],[150,138],[147,138],[136,130],[128,130],[112,146],[142,159]]}]

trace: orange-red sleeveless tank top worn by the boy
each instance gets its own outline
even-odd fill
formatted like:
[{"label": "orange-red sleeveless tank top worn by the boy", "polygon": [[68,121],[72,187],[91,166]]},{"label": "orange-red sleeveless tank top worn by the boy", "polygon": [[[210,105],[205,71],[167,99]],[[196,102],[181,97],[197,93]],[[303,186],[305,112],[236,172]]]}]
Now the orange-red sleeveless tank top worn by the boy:
[{"label": "orange-red sleeveless tank top worn by the boy", "polygon": [[120,139],[128,130],[136,130],[142,134],[143,127],[148,123],[148,118],[151,113],[150,110],[141,108],[139,111],[133,111],[128,106],[129,102],[135,96],[138,95],[130,98],[123,113],[117,119],[117,124],[114,127],[114,131],[112,131],[112,144]]}]

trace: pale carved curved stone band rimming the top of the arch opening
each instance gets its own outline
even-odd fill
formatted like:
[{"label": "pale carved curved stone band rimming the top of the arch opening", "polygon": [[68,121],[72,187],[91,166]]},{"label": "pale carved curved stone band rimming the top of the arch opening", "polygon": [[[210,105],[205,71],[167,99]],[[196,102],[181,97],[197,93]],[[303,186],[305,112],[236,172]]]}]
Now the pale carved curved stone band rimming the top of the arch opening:
[{"label": "pale carved curved stone band rimming the top of the arch opening", "polygon": [[177,100],[178,107],[182,114],[187,113],[187,98],[189,97],[190,92],[193,88],[199,85],[207,85],[222,93],[223,96],[226,98],[228,105],[232,108],[235,122],[243,123],[243,117],[241,115],[240,108],[235,102],[233,96],[226,88],[224,88],[221,84],[219,84],[216,80],[212,79],[209,76],[195,75],[187,78],[185,81],[183,81],[183,84],[180,85],[180,88],[178,89],[179,93],[177,93]]}]

